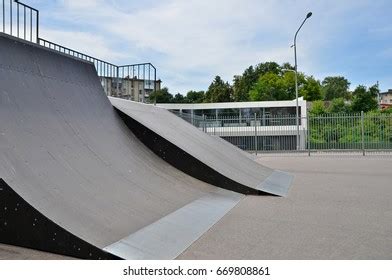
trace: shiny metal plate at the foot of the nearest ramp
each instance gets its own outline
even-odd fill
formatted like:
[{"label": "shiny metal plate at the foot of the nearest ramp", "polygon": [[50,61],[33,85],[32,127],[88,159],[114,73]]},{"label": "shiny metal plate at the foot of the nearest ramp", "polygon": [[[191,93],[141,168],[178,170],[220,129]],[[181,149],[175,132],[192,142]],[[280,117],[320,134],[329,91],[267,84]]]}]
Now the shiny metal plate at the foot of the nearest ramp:
[{"label": "shiny metal plate at the foot of the nearest ramp", "polygon": [[226,190],[210,193],[104,250],[124,259],[175,259],[237,205],[242,197]]}]

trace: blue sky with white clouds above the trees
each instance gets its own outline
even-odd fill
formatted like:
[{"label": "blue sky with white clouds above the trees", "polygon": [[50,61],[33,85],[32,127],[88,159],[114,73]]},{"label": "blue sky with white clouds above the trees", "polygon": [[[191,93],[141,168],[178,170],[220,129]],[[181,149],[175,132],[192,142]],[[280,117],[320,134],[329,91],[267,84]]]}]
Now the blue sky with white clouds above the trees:
[{"label": "blue sky with white clouds above the trees", "polygon": [[151,62],[173,94],[232,83],[250,65],[294,64],[319,80],[392,89],[390,0],[24,0],[40,37],[117,65]]}]

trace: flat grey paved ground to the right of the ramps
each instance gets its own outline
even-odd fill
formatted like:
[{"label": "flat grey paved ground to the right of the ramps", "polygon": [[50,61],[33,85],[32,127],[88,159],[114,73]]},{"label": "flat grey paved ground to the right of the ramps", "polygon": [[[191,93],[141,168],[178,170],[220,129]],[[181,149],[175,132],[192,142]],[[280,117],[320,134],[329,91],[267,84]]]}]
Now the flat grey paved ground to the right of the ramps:
[{"label": "flat grey paved ground to the right of the ramps", "polygon": [[391,259],[392,157],[265,155],[288,198],[248,196],[180,259]]}]

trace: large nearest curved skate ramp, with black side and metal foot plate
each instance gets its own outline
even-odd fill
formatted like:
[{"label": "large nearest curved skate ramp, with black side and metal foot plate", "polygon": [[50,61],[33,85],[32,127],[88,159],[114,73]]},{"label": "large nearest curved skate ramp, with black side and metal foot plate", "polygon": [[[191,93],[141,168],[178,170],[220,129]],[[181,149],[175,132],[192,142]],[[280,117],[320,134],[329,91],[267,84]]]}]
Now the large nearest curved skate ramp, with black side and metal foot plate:
[{"label": "large nearest curved skate ramp, with black side and metal foot plate", "polygon": [[[143,145],[92,64],[0,34],[0,243],[78,258],[174,258],[241,197]],[[132,248],[146,231],[155,233],[146,246]]]}]

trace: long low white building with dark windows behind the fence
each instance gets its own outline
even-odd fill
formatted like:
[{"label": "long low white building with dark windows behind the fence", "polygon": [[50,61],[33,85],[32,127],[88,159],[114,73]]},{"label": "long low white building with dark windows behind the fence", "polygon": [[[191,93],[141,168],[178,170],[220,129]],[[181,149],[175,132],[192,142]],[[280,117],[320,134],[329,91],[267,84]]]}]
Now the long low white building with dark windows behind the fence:
[{"label": "long low white building with dark windows behind the fence", "polygon": [[307,103],[303,98],[298,100],[298,147],[295,100],[156,106],[170,110],[208,134],[220,136],[245,150],[252,150],[256,145],[263,150],[305,149]]}]

